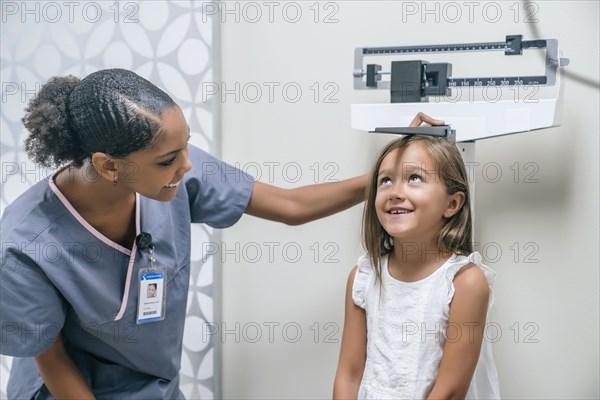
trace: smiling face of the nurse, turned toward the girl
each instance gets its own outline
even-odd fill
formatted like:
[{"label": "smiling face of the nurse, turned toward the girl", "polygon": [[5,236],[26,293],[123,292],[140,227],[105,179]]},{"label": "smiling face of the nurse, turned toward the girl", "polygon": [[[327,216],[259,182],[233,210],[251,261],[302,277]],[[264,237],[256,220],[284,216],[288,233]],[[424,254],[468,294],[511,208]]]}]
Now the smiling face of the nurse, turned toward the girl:
[{"label": "smiling face of the nurse, turned toward the girl", "polygon": [[159,201],[175,198],[183,176],[192,168],[188,159],[189,127],[178,107],[162,114],[162,129],[152,147],[118,161],[119,184]]}]

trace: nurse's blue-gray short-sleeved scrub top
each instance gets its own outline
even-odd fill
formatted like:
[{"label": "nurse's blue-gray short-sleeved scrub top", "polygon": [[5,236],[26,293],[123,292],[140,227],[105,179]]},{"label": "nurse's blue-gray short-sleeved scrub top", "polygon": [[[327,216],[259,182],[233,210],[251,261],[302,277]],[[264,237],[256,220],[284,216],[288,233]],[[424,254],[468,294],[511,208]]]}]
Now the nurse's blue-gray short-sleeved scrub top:
[{"label": "nurse's blue-gray short-sleeved scrub top", "polygon": [[[137,195],[137,233],[152,235],[166,267],[166,317],[136,324],[138,272],[148,250],[126,249],[96,231],[52,180],[27,190],[0,221],[0,352],[16,357],[10,399],[51,398],[33,356],[62,334],[98,399],[179,399],[179,368],[190,277],[190,223],[233,225],[253,178],[189,146],[193,168],[175,199]],[[199,246],[200,243],[194,243]]]}]

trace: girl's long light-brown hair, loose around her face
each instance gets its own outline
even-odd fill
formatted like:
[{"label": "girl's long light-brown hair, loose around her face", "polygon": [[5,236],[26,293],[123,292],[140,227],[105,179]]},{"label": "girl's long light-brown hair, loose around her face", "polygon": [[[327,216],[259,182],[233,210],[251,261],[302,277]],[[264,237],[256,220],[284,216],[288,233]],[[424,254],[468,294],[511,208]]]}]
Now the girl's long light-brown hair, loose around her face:
[{"label": "girl's long light-brown hair, loose around her face", "polygon": [[430,136],[404,136],[388,144],[371,171],[369,186],[366,190],[366,202],[363,212],[362,240],[369,254],[375,275],[381,282],[380,257],[393,250],[394,242],[383,229],[375,209],[377,195],[377,175],[383,159],[396,149],[403,149],[411,144],[418,144],[427,152],[434,162],[434,168],[448,194],[462,192],[465,201],[461,209],[448,218],[437,237],[437,247],[442,253],[469,255],[472,253],[472,222],[467,171],[456,145],[444,138]]}]

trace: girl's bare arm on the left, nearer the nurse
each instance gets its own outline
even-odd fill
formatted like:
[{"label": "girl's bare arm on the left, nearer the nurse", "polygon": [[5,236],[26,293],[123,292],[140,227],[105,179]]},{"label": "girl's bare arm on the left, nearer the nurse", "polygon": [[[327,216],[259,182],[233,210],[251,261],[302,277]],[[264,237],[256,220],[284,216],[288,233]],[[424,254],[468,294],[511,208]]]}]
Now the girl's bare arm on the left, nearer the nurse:
[{"label": "girl's bare arm on the left, nearer the nurse", "polygon": [[352,285],[357,267],[350,272],[346,284],[346,317],[335,382],[334,399],[356,399],[367,358],[367,321],[365,310],[354,304]]}]

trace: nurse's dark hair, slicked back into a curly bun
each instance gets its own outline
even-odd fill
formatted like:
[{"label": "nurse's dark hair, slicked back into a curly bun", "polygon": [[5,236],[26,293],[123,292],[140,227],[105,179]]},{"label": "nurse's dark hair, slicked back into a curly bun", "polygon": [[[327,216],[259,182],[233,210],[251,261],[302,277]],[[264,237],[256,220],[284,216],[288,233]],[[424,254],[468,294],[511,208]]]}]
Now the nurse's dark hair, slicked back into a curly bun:
[{"label": "nurse's dark hair, slicked back into a curly bun", "polygon": [[54,77],[29,102],[22,121],[29,157],[44,167],[82,166],[95,152],[125,157],[148,147],[160,116],[177,104],[151,82],[124,69],[82,80]]}]

